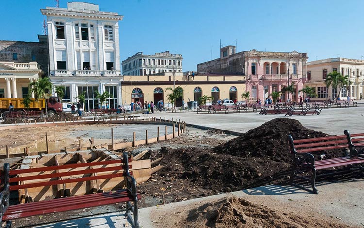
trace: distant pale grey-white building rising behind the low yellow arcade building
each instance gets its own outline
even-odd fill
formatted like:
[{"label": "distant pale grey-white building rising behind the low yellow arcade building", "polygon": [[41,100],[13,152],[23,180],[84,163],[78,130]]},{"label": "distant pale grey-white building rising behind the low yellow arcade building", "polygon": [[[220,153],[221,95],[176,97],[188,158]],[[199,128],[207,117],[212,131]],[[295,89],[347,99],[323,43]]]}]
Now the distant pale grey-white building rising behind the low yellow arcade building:
[{"label": "distant pale grey-white building rising behind the low yellow arcade building", "polygon": [[162,72],[183,72],[182,55],[171,54],[169,51],[155,53],[155,55],[143,55],[138,52],[122,61],[123,75],[152,75]]}]

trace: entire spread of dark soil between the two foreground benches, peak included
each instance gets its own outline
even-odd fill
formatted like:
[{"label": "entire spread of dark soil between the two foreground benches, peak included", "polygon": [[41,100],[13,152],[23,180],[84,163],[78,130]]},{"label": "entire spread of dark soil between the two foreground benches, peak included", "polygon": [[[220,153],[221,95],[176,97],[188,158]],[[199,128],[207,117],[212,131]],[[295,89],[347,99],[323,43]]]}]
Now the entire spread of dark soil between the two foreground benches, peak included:
[{"label": "entire spread of dark soil between the two foreground benches, peak included", "polygon": [[162,196],[164,203],[284,183],[292,165],[289,134],[294,139],[327,136],[297,120],[277,118],[215,148],[162,147],[149,157],[162,157],[158,165],[164,167],[139,189],[146,195]]}]

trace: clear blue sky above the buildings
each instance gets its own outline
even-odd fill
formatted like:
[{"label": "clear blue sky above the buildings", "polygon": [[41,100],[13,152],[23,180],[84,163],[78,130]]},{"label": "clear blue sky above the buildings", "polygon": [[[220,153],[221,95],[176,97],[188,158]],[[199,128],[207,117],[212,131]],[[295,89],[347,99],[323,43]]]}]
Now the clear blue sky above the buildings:
[{"label": "clear blue sky above the buildings", "polygon": [[[309,61],[364,56],[364,0],[84,0],[124,15],[121,60],[138,51],[182,54],[183,71],[237,50],[307,52]],[[0,0],[0,40],[37,41],[40,8],[54,0]],[[66,8],[67,1],[60,0]],[[211,51],[212,50],[212,51]],[[364,57],[363,57],[364,59]]]}]

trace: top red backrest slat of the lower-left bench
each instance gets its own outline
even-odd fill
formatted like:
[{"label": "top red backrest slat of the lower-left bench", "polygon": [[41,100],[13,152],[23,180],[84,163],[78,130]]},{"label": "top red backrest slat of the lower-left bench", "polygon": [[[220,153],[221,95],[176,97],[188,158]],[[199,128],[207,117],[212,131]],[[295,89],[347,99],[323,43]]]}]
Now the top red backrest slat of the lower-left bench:
[{"label": "top red backrest slat of the lower-left bench", "polygon": [[[131,159],[129,162],[131,162]],[[60,170],[60,169],[70,169],[70,168],[80,168],[80,167],[88,167],[88,166],[97,166],[97,165],[105,165],[105,164],[117,164],[123,163],[122,159],[116,160],[108,160],[102,162],[95,162],[90,165],[90,163],[78,163],[78,164],[64,164],[60,166],[49,166],[49,167],[40,167],[40,168],[32,168],[32,169],[15,169],[10,170],[9,175],[16,175],[16,174],[24,174],[24,173],[33,173],[33,172],[43,172],[43,171],[53,171],[53,170]]]}]

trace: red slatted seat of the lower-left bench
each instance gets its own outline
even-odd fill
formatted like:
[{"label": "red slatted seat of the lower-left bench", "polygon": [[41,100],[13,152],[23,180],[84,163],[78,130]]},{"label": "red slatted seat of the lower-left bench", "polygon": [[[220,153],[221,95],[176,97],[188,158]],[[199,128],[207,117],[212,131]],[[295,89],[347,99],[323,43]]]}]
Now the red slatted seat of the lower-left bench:
[{"label": "red slatted seat of the lower-left bench", "polygon": [[[123,192],[125,192],[125,190]],[[103,196],[103,197],[97,197],[96,195]],[[127,202],[127,201],[132,200],[132,196],[130,196],[130,195],[120,194],[120,195],[115,195],[113,197],[108,197],[108,195],[109,194],[104,194],[104,193],[93,194],[94,198],[90,198],[87,201],[83,201],[83,203],[74,202],[71,198],[74,198],[75,196],[69,197],[70,200],[64,200],[64,198],[62,198],[64,204],[58,205],[59,207],[52,207],[52,208],[46,207],[43,209],[37,208],[36,210],[33,210],[33,207],[36,204],[43,203],[43,202],[41,201],[41,202],[29,203],[29,204],[25,204],[23,206],[24,211],[21,209],[18,211],[13,211],[14,214],[8,213],[8,211],[6,211],[5,215],[3,217],[3,220],[30,217],[30,216],[34,216],[34,215],[48,214],[48,213],[54,213],[54,212],[65,212],[65,211],[69,211],[69,210],[83,209],[83,208],[87,208],[87,207],[96,207],[96,206],[101,206],[101,205],[121,203],[121,202]],[[76,196],[76,197],[79,197],[79,196]],[[83,196],[80,196],[80,197],[82,198]],[[140,195],[138,195],[138,198],[140,199]],[[49,203],[53,203],[53,200],[51,200]],[[9,207],[10,210],[11,210],[11,208],[12,208],[12,206]]]}]

